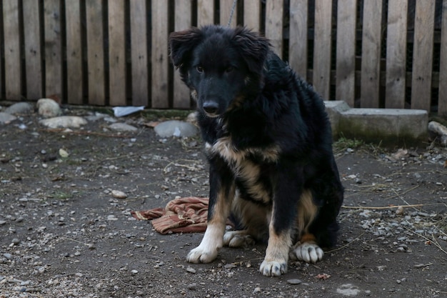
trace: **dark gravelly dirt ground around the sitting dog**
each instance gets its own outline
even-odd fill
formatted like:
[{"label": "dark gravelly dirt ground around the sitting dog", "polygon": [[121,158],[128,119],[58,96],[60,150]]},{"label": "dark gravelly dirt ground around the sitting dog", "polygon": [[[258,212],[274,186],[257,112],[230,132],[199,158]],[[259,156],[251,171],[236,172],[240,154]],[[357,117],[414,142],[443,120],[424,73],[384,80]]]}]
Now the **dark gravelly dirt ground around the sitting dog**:
[{"label": "dark gravelly dirt ground around the sitting dog", "polygon": [[447,297],[446,148],[338,141],[338,246],[270,278],[258,272],[264,244],[188,264],[203,234],[161,235],[131,217],[207,196],[199,137],[161,139],[142,114],[119,119],[139,129],[124,133],[102,119],[73,131],[38,120],[0,126],[1,298]]}]

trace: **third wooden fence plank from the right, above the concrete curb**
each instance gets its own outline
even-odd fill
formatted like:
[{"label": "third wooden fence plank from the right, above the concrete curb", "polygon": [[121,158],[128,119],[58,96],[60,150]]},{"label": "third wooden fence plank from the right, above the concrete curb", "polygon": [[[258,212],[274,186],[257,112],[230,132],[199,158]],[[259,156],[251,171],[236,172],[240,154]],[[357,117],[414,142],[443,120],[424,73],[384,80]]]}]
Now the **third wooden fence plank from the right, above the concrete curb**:
[{"label": "third wooden fence plank from the right, above the concrete curb", "polygon": [[385,107],[405,106],[407,0],[388,1]]}]

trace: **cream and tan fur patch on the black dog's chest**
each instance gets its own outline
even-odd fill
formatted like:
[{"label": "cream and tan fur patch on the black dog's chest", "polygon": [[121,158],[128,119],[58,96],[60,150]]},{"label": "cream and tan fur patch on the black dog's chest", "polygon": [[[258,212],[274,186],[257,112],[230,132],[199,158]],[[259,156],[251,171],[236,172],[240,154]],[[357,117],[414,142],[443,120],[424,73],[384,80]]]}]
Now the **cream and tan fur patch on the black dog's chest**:
[{"label": "cream and tan fur patch on the black dog's chest", "polygon": [[268,165],[276,163],[279,149],[276,146],[265,148],[237,149],[231,137],[225,136],[214,144],[206,144],[206,151],[218,155],[233,172],[235,179],[243,186],[243,190],[251,199],[263,202],[270,201],[268,185],[260,181],[260,177]]}]

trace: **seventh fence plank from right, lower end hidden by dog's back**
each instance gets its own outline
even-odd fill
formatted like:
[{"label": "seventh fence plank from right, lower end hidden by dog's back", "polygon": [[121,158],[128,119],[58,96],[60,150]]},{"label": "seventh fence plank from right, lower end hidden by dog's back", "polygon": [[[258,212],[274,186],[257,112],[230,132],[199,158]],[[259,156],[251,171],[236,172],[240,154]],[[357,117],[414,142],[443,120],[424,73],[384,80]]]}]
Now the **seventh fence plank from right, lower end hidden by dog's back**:
[{"label": "seventh fence plank from right, lower end hidden by dog's back", "polygon": [[303,79],[307,79],[307,23],[308,0],[291,0],[288,63]]}]

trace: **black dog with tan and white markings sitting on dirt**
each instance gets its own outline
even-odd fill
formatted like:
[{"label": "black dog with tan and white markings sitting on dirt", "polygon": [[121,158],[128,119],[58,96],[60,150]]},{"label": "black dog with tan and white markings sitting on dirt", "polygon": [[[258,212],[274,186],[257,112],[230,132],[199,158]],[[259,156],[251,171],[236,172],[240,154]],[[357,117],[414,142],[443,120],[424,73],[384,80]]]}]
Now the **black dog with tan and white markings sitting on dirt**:
[{"label": "black dog with tan and white markings sitting on dirt", "polygon": [[[169,43],[197,101],[210,164],[208,227],[188,262],[263,239],[266,276],[285,273],[289,254],[320,260],[320,247],[336,241],[343,202],[321,97],[248,29],[192,28]],[[241,229],[224,234],[230,216]]]}]

